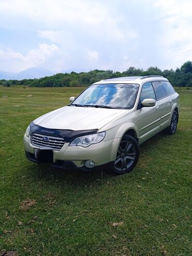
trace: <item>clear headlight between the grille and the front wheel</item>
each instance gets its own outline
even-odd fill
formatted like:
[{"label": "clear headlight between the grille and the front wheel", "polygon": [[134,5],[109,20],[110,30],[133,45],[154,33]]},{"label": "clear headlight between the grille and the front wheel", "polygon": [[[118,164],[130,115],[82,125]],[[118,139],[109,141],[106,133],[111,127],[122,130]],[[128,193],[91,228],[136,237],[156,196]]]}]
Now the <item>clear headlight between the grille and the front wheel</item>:
[{"label": "clear headlight between the grille and the front wheel", "polygon": [[103,131],[103,132],[98,132],[98,133],[78,137],[70,143],[70,146],[87,147],[87,146],[90,146],[91,144],[99,143],[104,139],[105,133],[106,132]]}]

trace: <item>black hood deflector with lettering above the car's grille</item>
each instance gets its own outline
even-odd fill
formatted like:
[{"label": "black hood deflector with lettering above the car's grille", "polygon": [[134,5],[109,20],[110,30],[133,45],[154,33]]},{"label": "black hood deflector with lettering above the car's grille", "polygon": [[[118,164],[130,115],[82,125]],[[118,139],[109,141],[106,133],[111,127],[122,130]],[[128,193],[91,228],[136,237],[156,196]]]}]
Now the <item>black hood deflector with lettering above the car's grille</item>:
[{"label": "black hood deflector with lettering above the car's grille", "polygon": [[39,133],[47,136],[54,136],[63,138],[65,142],[72,142],[75,138],[79,136],[84,136],[88,134],[96,133],[98,129],[92,130],[67,130],[67,129],[49,129],[39,125],[35,125],[33,122],[30,124],[30,135],[33,133]]}]

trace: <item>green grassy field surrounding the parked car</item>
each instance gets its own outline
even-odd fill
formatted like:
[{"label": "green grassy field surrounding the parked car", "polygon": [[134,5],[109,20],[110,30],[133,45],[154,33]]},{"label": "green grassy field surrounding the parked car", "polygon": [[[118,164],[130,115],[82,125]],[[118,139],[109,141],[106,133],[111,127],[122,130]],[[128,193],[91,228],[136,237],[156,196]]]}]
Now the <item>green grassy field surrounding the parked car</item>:
[{"label": "green grassy field surrounding the parked car", "polygon": [[160,133],[142,144],[138,165],[124,176],[40,168],[28,161],[26,127],[81,90],[0,87],[0,251],[191,255],[192,92],[178,90],[176,134]]}]

